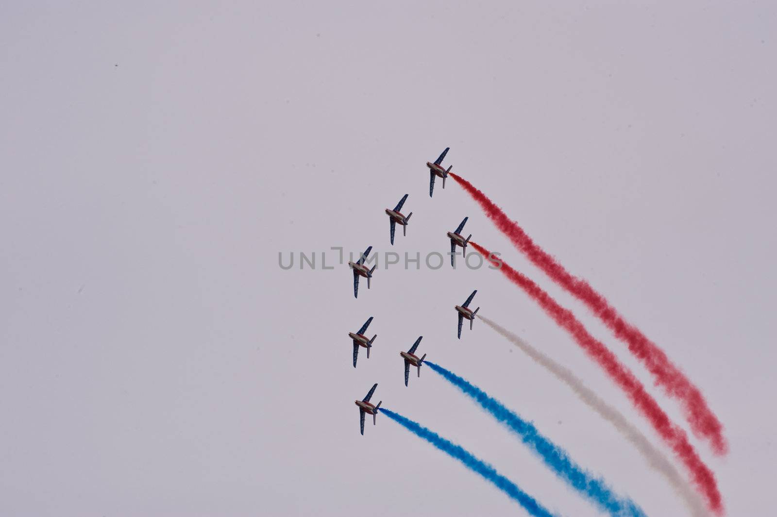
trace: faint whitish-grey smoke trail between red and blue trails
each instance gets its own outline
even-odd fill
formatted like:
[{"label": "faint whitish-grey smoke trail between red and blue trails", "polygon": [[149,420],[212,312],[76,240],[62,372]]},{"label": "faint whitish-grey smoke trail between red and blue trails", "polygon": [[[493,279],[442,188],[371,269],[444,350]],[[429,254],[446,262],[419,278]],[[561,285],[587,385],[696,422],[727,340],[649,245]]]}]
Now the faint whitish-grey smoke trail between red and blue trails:
[{"label": "faint whitish-grey smoke trail between red and blue trails", "polygon": [[583,383],[583,380],[565,366],[556,363],[556,361],[549,356],[545,356],[545,354],[538,349],[535,349],[506,328],[500,327],[499,324],[491,321],[489,318],[481,316],[480,314],[478,314],[478,317],[490,328],[493,328],[494,331],[497,331],[497,334],[506,338],[507,341],[517,346],[518,349],[521,349],[521,352],[524,352],[524,354],[532,361],[545,368],[545,370],[548,370],[557,380],[560,380],[569,386],[581,401],[589,408],[596,411],[601,418],[610,422],[611,425],[643,455],[650,468],[664,476],[671,488],[674,489],[675,493],[678,494],[678,497],[685,503],[685,507],[693,517],[706,517],[709,515],[704,508],[704,505],[702,505],[699,496],[692,491],[692,488],[685,479],[683,479],[678,470],[674,468],[674,465],[672,465],[667,456],[654,447],[653,444],[650,443],[650,440],[648,440],[636,426],[629,423],[620,411],[601,400],[601,398],[594,393],[594,390],[587,387]]}]

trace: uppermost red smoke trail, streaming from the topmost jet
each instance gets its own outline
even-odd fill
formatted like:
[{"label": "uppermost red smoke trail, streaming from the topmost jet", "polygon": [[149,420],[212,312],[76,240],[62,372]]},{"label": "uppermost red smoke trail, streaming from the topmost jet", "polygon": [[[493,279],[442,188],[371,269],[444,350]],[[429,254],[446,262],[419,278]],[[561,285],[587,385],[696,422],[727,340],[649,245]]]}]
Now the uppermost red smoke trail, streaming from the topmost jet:
[{"label": "uppermost red smoke trail, streaming from the topmost jet", "polygon": [[479,203],[486,215],[493,220],[493,223],[503,234],[507,235],[507,238],[518,250],[523,252],[554,282],[586,304],[610,328],[615,337],[629,345],[629,351],[642,361],[647,370],[653,374],[656,382],[664,387],[666,393],[681,401],[685,418],[691,425],[692,431],[696,435],[708,439],[714,453],[725,454],[728,452],[720,420],[707,405],[701,390],[688,380],[685,373],[682,373],[677,366],[672,364],[664,350],[651,342],[639,328],[625,321],[625,318],[618,314],[618,311],[615,311],[615,308],[608,303],[605,297],[596,292],[584,279],[572,276],[559,262],[556,262],[556,259],[536,245],[523,228],[518,226],[515,221],[510,220],[499,206],[488,199],[479,189],[472,186],[472,183],[453,172],[449,174]]}]

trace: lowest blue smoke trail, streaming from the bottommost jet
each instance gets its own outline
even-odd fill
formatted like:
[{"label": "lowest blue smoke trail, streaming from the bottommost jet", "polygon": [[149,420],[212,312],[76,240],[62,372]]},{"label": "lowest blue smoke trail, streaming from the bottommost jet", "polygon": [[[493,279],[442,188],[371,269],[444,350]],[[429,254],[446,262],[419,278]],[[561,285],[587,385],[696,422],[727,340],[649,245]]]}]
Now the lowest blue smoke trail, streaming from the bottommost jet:
[{"label": "lowest blue smoke trail, streaming from the bottommost jet", "polygon": [[486,480],[491,481],[497,488],[509,495],[514,501],[517,501],[519,505],[523,506],[530,515],[535,515],[536,517],[555,517],[554,514],[540,505],[535,498],[532,498],[531,495],[522,491],[516,484],[507,479],[507,477],[499,474],[497,470],[488,463],[472,456],[472,453],[467,452],[462,446],[458,446],[454,442],[444,439],[436,432],[430,431],[423,427],[423,425],[399,415],[399,413],[395,413],[386,408],[380,408],[378,411],[391,418],[394,422],[399,423],[399,425],[402,425],[410,432],[413,432],[427,442],[430,442],[433,446],[437,447],[437,449],[440,449],[442,452],[448,453],[451,457],[461,461],[466,467],[474,470],[486,478]]}]

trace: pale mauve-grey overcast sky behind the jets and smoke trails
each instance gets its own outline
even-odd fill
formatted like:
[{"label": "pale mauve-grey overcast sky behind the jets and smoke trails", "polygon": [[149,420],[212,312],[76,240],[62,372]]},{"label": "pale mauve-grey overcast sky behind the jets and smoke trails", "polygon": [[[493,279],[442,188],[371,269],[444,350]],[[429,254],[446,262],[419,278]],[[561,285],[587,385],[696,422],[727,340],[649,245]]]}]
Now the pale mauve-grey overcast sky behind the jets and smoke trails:
[{"label": "pale mauve-grey overcast sky behind the jets and smoke trails", "polygon": [[[385,416],[427,425],[563,515],[600,515],[418,352],[500,398],[648,515],[684,515],[608,423],[481,321],[573,369],[666,447],[489,269],[385,269],[342,246],[472,239],[535,279],[493,200],[706,394],[730,515],[767,515],[775,453],[773,2],[5,2],[0,7],[0,514],[525,515]],[[389,245],[385,208],[413,212]],[[322,270],[322,252],[327,265]],[[315,252],[316,269],[280,269]],[[422,259],[423,260],[423,259]],[[447,258],[446,258],[447,260]],[[436,264],[433,264],[436,265]],[[370,359],[347,332],[369,317]],[[682,469],[678,463],[678,468]],[[683,471],[684,472],[684,471]]]}]

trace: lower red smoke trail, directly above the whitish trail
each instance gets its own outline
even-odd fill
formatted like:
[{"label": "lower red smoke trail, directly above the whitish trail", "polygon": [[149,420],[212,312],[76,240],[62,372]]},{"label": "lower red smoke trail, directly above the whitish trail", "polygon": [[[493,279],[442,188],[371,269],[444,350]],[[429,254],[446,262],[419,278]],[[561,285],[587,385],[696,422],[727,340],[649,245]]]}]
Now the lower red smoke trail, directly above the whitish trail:
[{"label": "lower red smoke trail, directly above the whitish trail", "polygon": [[608,373],[610,378],[618,384],[618,387],[625,391],[634,406],[650,421],[653,429],[656,430],[660,437],[664,439],[664,442],[678,456],[678,459],[688,468],[692,481],[706,498],[709,508],[716,514],[722,514],[723,499],[721,498],[720,491],[718,491],[715,474],[699,458],[691,443],[688,442],[688,436],[685,435],[685,431],[671,422],[669,416],[664,413],[664,410],[660,408],[656,400],[646,392],[645,387],[634,374],[623,366],[618,361],[618,358],[615,357],[615,354],[605,345],[589,334],[571,311],[561,307],[540,286],[521,274],[521,272],[511,268],[503,260],[490,259],[490,252],[483,248],[483,246],[473,241],[469,241],[469,244],[494,265],[500,265],[501,263],[500,270],[502,274],[507,276],[512,283],[521,287],[531,299],[535,300],[545,313],[556,321],[559,327],[568,331],[577,341],[577,344],[587,352],[588,356],[591,356]]}]

